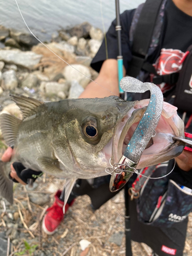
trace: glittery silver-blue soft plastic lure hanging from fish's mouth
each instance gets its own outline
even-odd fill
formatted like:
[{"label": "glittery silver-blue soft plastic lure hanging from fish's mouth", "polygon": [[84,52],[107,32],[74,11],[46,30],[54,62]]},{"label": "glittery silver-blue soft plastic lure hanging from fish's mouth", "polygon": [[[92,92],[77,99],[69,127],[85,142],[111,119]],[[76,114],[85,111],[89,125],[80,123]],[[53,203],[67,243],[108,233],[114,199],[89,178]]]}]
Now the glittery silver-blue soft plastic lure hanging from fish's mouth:
[{"label": "glittery silver-blue soft plastic lure hanging from fish's mouth", "polygon": [[120,82],[123,91],[133,93],[151,92],[150,103],[141,118],[123,156],[114,165],[111,176],[110,190],[117,191],[131,178],[139,162],[141,154],[150,139],[154,136],[163,109],[163,95],[154,83],[141,82],[133,77],[124,77]]}]

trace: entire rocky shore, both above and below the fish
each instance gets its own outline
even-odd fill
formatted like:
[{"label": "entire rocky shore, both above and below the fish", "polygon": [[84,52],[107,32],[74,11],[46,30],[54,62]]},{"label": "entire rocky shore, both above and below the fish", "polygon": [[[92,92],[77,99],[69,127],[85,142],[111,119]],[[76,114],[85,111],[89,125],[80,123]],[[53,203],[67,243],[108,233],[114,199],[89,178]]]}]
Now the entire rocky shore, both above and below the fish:
[{"label": "entire rocky shore, both above and below the fish", "polygon": [[[10,100],[10,94],[15,93],[44,101],[78,98],[89,78],[94,80],[98,75],[90,63],[102,39],[102,31],[87,22],[56,31],[45,46],[31,34],[0,26],[0,111],[22,118]],[[5,148],[0,138],[0,157]],[[57,232],[47,236],[41,230],[41,220],[57,189],[63,187],[63,180],[44,175],[34,184],[30,191],[15,183],[13,205],[0,198],[1,256],[125,255],[123,191],[96,211],[90,207],[88,196],[78,197]],[[184,256],[192,255],[191,237],[192,215]],[[86,240],[84,245],[82,240]],[[151,255],[145,245],[133,242],[132,249],[134,256]]]}]

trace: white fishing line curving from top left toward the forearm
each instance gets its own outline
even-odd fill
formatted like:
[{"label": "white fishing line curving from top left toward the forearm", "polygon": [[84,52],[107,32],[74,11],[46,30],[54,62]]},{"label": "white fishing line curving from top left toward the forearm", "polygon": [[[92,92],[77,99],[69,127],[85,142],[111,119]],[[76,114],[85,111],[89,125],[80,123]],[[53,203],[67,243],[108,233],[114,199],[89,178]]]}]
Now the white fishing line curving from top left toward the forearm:
[{"label": "white fishing line curving from top left toward the forearm", "polygon": [[84,75],[82,72],[80,72],[80,71],[77,70],[76,68],[74,68],[74,67],[73,67],[72,65],[70,65],[67,61],[65,61],[64,59],[62,59],[62,58],[61,58],[60,56],[58,56],[55,52],[53,52],[53,51],[52,51],[48,46],[46,46],[41,40],[39,40],[39,39],[33,34],[33,32],[30,30],[30,28],[28,27],[28,25],[27,25],[27,23],[26,23],[26,21],[25,21],[25,19],[24,19],[24,16],[23,16],[22,12],[20,11],[20,8],[19,8],[19,6],[18,6],[18,4],[17,4],[17,0],[15,0],[15,2],[16,2],[17,8],[18,8],[18,10],[19,10],[19,13],[20,13],[20,15],[22,16],[22,18],[23,18],[23,20],[24,20],[24,23],[25,23],[26,27],[28,28],[28,30],[30,31],[30,33],[31,33],[43,46],[45,46],[50,52],[52,52],[53,54],[55,54],[55,56],[57,56],[60,60],[62,60],[63,62],[65,62],[68,66],[70,66],[71,68],[73,68],[74,70],[76,70],[77,72],[79,72],[81,75],[87,77],[90,81],[96,83],[98,86],[100,86],[100,87],[102,87],[103,89],[109,91],[111,94],[115,94],[115,93],[113,93],[112,91],[110,91],[109,89],[105,88],[104,86],[101,86],[101,84],[99,84],[98,82],[92,80],[90,77]]}]

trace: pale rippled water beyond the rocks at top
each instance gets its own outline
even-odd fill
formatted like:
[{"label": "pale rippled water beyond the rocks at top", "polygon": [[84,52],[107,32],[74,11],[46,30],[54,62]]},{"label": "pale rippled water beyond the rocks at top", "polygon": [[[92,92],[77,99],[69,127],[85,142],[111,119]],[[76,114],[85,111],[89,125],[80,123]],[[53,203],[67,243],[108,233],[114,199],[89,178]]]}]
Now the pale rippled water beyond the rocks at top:
[{"label": "pale rippled water beyond the rocks at top", "polygon": [[[136,8],[144,0],[120,0],[120,12]],[[17,0],[27,25],[40,39],[50,39],[61,28],[88,21],[108,30],[115,18],[115,0]],[[15,0],[0,0],[0,24],[7,28],[28,31]]]}]

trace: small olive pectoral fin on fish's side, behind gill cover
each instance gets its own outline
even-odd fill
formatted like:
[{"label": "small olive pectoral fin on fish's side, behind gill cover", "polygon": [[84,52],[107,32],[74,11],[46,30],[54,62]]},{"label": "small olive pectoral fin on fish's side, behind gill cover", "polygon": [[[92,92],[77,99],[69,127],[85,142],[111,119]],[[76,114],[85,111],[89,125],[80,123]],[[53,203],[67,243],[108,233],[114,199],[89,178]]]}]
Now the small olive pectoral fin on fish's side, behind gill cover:
[{"label": "small olive pectoral fin on fish's side, behind gill cover", "polygon": [[63,172],[60,168],[59,168],[59,161],[57,159],[51,159],[48,157],[38,157],[37,158],[37,162],[39,164],[39,166],[41,167],[41,169],[43,169],[45,171],[45,173],[49,173],[49,174],[59,174],[61,172]]}]

